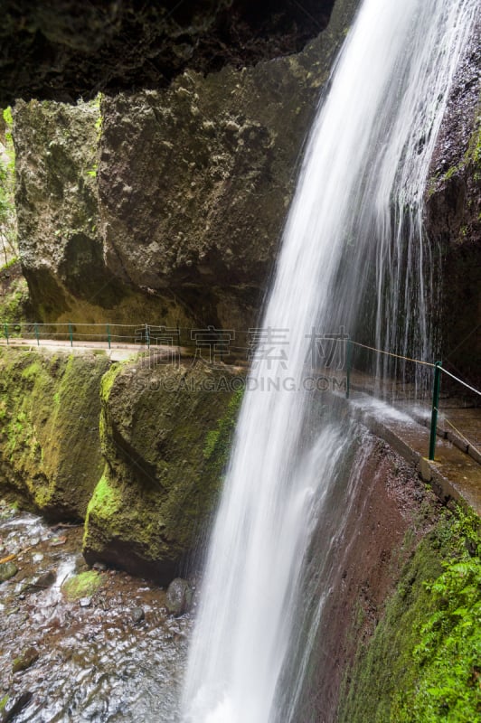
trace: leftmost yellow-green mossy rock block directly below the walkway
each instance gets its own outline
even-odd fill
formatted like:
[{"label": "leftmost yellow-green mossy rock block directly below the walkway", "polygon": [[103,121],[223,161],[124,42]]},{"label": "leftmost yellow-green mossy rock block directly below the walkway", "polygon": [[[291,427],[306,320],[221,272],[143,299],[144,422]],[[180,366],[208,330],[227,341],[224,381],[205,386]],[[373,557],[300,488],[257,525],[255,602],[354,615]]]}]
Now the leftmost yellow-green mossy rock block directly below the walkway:
[{"label": "leftmost yellow-green mossy rock block directly below the walkway", "polygon": [[103,468],[103,354],[0,350],[0,489],[56,519],[85,516]]}]

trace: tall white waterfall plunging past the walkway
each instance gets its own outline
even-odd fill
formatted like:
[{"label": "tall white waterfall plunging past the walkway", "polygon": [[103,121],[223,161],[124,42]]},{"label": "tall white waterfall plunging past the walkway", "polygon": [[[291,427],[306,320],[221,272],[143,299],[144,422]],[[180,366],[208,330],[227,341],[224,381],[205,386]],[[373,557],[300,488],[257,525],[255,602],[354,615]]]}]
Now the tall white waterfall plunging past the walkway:
[{"label": "tall white waterfall plunging past the walkway", "polygon": [[189,655],[185,721],[285,723],[279,680],[307,549],[353,439],[353,426],[313,419],[317,333],[344,326],[429,354],[422,194],[476,8],[477,0],[364,0],[344,42],[307,145],[241,408]]}]

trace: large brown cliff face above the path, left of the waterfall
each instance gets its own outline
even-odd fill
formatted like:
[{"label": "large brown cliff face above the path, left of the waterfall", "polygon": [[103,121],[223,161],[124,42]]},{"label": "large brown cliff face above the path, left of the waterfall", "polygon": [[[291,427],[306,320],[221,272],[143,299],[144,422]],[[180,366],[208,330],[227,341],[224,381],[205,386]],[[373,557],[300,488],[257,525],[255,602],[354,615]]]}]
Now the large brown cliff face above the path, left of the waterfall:
[{"label": "large brown cliff face above the path, left of the waterfall", "polygon": [[219,324],[259,312],[319,90],[354,13],[303,52],[100,107],[19,101],[18,229],[37,318]]}]

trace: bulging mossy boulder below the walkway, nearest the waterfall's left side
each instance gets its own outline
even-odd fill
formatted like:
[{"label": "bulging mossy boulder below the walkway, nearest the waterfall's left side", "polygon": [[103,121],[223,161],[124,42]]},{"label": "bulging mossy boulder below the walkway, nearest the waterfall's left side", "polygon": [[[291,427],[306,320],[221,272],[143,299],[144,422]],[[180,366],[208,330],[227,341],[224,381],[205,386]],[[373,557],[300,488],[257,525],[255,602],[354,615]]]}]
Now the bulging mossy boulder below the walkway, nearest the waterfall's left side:
[{"label": "bulging mossy boulder below the walkway, nearest the waterfall's left side", "polygon": [[104,473],[84,556],[170,582],[199,545],[222,483],[241,379],[232,371],[121,364],[102,382]]}]

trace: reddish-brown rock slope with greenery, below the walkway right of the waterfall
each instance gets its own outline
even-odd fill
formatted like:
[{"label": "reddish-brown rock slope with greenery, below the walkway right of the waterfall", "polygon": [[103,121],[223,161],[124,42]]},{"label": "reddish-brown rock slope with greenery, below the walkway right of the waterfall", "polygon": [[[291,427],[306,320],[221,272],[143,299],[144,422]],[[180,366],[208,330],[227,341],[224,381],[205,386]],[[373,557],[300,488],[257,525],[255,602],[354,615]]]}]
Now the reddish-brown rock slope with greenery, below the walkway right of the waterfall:
[{"label": "reddish-brown rock slope with greenery, below the walkway right of the waterfall", "polygon": [[481,526],[362,424],[314,531],[282,720],[476,719]]}]

